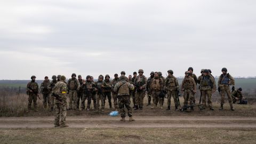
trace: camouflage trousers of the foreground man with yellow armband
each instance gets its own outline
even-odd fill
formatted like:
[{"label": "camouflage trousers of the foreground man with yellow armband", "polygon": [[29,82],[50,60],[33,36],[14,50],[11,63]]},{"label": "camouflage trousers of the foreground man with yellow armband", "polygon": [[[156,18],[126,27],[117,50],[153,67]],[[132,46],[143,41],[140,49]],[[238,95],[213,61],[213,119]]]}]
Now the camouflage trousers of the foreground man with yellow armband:
[{"label": "camouflage trousers of the foreground man with yellow armband", "polygon": [[67,116],[67,102],[65,102],[62,99],[62,104],[59,102],[56,102],[56,108],[55,108],[55,121],[54,124],[61,124],[64,125],[66,124],[66,116]]}]

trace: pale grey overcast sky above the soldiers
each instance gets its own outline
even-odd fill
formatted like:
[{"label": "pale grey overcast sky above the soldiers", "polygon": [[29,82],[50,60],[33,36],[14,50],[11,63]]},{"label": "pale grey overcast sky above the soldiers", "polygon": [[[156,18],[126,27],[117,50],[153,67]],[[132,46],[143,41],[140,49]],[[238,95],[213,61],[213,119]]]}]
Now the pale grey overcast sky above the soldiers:
[{"label": "pale grey overcast sky above the soldiers", "polygon": [[256,1],[1,1],[0,79],[255,76]]}]

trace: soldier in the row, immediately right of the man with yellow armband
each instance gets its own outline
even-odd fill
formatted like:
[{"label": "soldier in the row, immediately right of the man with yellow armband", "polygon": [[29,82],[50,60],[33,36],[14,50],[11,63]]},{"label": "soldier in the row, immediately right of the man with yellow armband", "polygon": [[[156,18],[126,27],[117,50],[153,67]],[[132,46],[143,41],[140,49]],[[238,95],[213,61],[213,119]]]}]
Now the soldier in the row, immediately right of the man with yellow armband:
[{"label": "soldier in the row, immediately right of the man with yellow armband", "polygon": [[[67,83],[67,91],[69,97],[69,109],[76,110],[76,103],[77,103],[77,91],[80,89],[80,83],[78,79],[76,79],[76,74],[72,74],[71,78],[68,79]],[[74,103],[73,103],[74,101]],[[69,110],[68,109],[68,110]],[[79,110],[79,109],[77,109]]]}]

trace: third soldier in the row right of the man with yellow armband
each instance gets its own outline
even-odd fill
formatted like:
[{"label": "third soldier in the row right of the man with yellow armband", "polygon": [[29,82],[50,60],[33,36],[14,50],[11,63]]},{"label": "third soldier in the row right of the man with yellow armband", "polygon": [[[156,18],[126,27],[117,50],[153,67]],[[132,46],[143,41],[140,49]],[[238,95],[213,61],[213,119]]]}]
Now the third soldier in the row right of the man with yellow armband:
[{"label": "third soldier in the row right of the man with yellow armband", "polygon": [[96,90],[91,76],[86,76],[86,81],[83,82],[82,89],[84,90],[84,95],[82,98],[81,110],[85,109],[85,100],[87,99],[86,110],[89,111],[91,107],[92,93]]}]

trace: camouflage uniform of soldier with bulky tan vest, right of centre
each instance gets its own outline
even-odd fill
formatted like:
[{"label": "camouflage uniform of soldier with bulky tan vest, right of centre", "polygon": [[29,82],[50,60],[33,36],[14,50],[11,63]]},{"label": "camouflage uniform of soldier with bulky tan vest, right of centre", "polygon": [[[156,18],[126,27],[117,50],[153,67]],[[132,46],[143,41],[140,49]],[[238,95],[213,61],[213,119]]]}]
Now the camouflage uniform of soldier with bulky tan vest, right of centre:
[{"label": "camouflage uniform of soldier with bulky tan vest, right of centre", "polygon": [[155,106],[157,106],[158,102],[161,108],[163,107],[162,99],[159,98],[159,94],[163,91],[163,89],[164,89],[163,79],[159,77],[154,77],[150,85],[150,90],[152,91],[152,97],[153,97],[153,103],[154,103],[154,106],[151,107],[152,109]]}]

